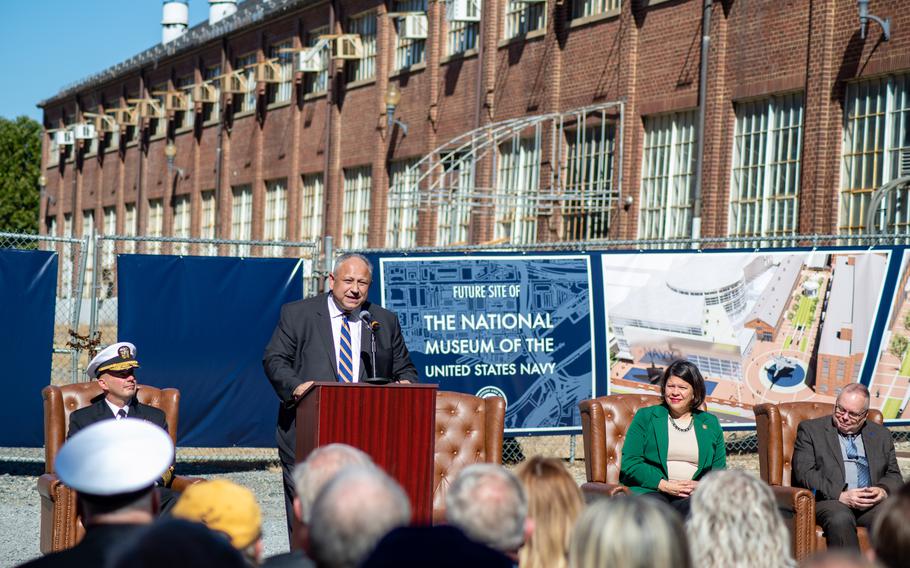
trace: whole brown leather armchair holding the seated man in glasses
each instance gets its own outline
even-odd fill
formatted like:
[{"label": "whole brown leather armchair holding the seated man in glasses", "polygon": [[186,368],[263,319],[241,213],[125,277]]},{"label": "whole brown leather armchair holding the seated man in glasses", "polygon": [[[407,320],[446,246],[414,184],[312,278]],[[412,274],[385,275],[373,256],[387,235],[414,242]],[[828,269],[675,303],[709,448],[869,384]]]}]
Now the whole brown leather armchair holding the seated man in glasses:
[{"label": "whole brown leather armchair holding the seated man in glasses", "polygon": [[[797,560],[827,548],[822,528],[815,524],[815,497],[808,489],[791,486],[793,446],[796,429],[803,420],[831,415],[833,404],[818,402],[786,402],[759,404],[755,412],[755,431],[758,435],[758,461],[761,477],[775,493],[790,491],[794,511],[793,548]],[[882,423],[882,413],[869,410],[867,420]],[[869,548],[866,529],[857,529],[860,547]]]}]

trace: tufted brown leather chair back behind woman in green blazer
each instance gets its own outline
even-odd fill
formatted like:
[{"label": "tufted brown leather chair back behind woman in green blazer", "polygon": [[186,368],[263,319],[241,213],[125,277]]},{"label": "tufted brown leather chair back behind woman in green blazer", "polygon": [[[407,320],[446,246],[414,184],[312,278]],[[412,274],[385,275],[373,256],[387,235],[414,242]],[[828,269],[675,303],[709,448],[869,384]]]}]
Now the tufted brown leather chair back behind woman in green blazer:
[{"label": "tufted brown leather chair back behind woman in green blazer", "polygon": [[619,483],[622,445],[639,408],[660,404],[653,394],[611,394],[578,403],[588,481]]}]

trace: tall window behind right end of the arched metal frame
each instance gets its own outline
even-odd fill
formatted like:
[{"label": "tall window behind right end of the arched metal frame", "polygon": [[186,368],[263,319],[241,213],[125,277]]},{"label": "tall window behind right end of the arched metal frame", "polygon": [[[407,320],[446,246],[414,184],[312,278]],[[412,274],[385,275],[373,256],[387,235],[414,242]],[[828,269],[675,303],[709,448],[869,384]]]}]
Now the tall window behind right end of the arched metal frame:
[{"label": "tall window behind right end of the arched metal frame", "polygon": [[607,123],[566,132],[566,240],[607,237],[618,197],[613,187],[615,138],[616,129]]}]

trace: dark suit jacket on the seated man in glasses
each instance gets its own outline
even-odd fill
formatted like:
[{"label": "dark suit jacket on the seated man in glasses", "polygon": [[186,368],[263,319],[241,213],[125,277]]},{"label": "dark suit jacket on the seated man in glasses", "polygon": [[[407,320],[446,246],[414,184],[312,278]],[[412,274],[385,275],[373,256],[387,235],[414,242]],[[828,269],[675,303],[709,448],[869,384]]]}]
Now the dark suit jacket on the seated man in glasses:
[{"label": "dark suit jacket on the seated man in glasses", "polygon": [[[872,484],[889,495],[894,493],[904,480],[891,433],[884,426],[867,421],[861,435]],[[800,422],[793,446],[792,484],[815,492],[816,501],[836,500],[847,486],[844,477],[844,456],[831,416]]]}]

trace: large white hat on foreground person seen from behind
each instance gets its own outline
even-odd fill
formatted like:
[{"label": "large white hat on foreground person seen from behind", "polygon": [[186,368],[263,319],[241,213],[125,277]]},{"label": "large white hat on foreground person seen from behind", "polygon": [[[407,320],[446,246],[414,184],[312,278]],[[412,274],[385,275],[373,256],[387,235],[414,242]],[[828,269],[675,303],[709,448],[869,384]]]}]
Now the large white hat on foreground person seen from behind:
[{"label": "large white hat on foreground person seen from behind", "polygon": [[174,461],[174,444],[146,420],[102,420],[73,435],[57,454],[60,480],[80,493],[120,495],[151,487]]}]

